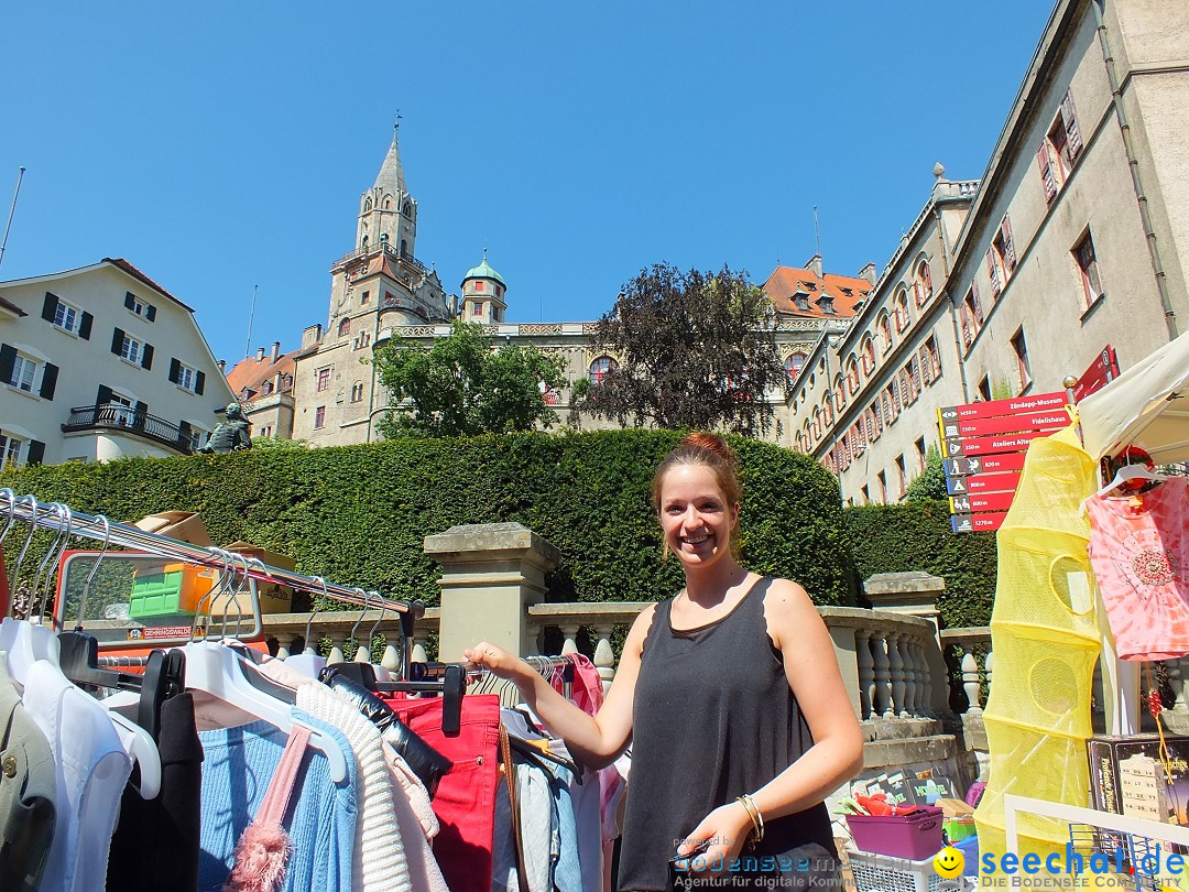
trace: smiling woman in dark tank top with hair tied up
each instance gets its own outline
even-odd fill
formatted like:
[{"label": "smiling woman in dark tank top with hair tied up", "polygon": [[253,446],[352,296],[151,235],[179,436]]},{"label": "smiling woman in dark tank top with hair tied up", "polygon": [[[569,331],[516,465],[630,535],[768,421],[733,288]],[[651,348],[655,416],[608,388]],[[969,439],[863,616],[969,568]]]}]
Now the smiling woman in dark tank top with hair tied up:
[{"label": "smiling woman in dark tank top with hair tied up", "polygon": [[809,595],[738,564],[742,495],[717,434],[690,434],[656,469],[653,502],[685,588],[641,613],[597,716],[493,645],[466,652],[512,679],[587,765],[630,742],[621,890],[667,888],[674,849],[685,886],[836,880],[824,799],[862,765],[862,735]]}]

